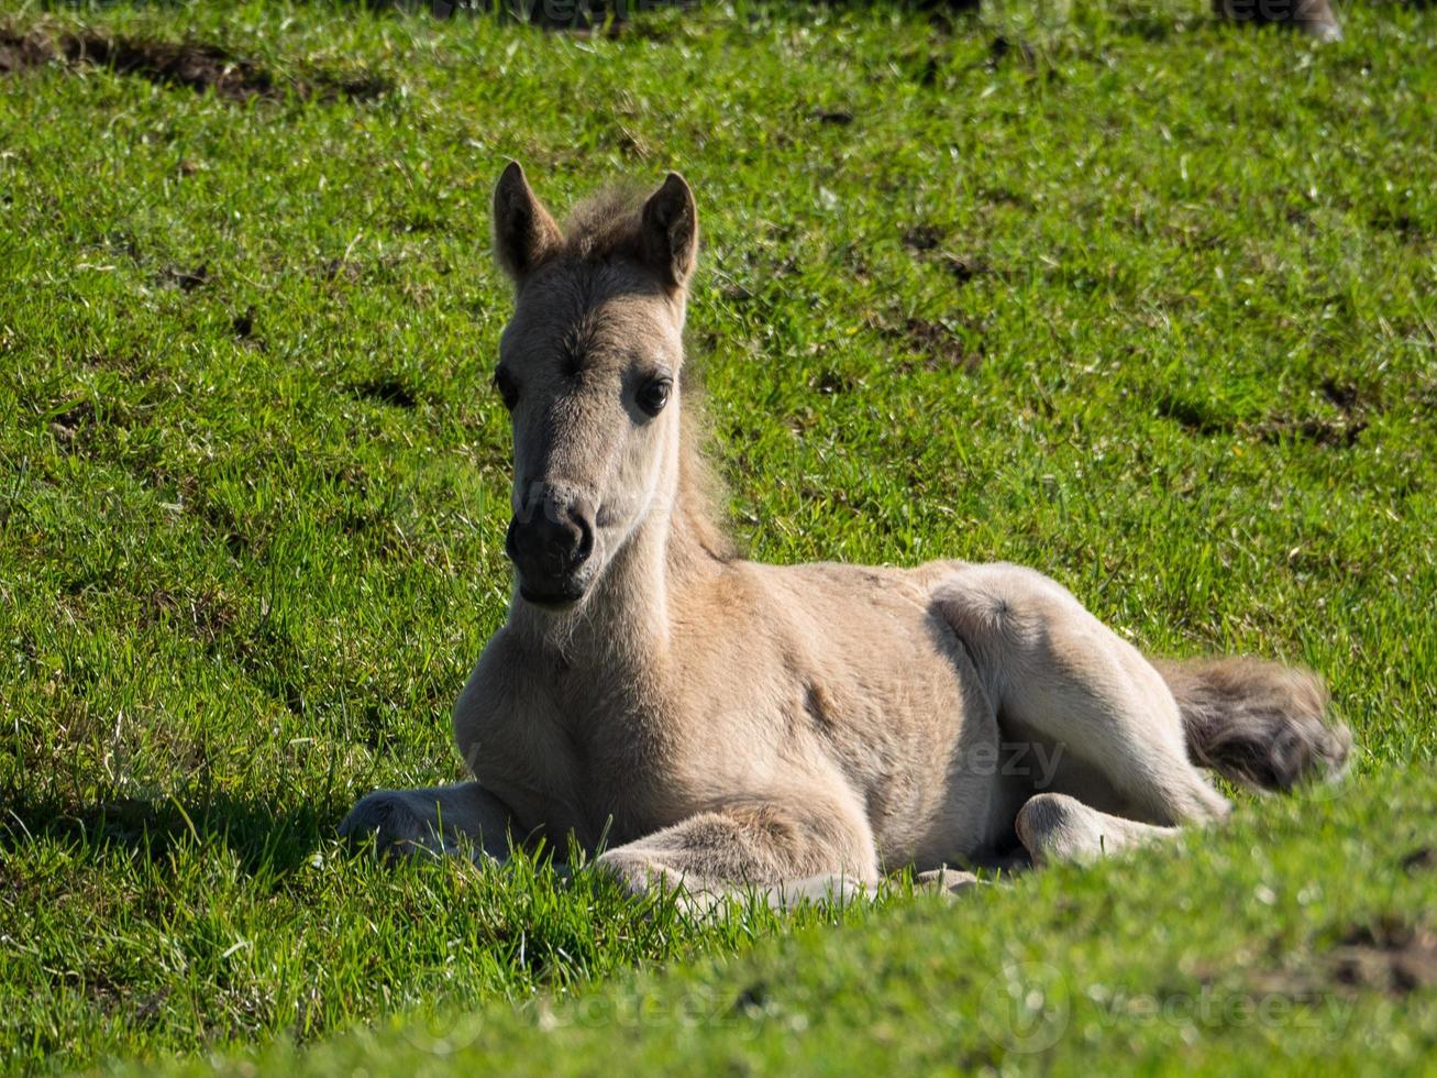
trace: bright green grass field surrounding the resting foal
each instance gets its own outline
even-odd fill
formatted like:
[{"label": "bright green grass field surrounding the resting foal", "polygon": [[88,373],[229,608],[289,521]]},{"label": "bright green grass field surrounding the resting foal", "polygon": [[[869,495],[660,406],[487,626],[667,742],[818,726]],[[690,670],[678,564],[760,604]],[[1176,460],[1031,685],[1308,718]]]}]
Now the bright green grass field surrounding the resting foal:
[{"label": "bright green grass field surrounding the resting foal", "polygon": [[[7,6],[6,1064],[1431,1072],[1437,19],[1344,17]],[[506,157],[553,206],[694,185],[753,556],[1026,562],[1151,651],[1308,663],[1349,780],[713,924],[342,849],[359,795],[460,775],[504,618]]]}]

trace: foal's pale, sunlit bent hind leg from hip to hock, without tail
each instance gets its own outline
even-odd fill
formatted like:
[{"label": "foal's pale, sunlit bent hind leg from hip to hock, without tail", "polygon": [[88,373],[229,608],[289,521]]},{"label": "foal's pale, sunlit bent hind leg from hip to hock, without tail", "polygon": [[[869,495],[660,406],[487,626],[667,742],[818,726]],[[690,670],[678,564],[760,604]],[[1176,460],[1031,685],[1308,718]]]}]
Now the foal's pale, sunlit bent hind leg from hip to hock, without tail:
[{"label": "foal's pale, sunlit bent hind leg from hip to hock, without tail", "polygon": [[1058,742],[1150,824],[1227,814],[1187,757],[1167,683],[1066,588],[1016,565],[966,565],[934,602],[973,655],[1006,734]]}]

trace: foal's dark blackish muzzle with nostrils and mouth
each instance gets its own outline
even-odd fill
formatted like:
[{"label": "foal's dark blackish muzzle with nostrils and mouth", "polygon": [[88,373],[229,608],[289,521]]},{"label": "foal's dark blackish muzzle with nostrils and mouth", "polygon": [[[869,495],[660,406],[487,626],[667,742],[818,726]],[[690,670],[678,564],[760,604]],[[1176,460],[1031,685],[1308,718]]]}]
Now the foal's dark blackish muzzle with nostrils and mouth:
[{"label": "foal's dark blackish muzzle with nostrils and mouth", "polygon": [[509,522],[504,552],[526,601],[539,607],[578,602],[589,585],[593,513],[581,499],[540,489]]}]

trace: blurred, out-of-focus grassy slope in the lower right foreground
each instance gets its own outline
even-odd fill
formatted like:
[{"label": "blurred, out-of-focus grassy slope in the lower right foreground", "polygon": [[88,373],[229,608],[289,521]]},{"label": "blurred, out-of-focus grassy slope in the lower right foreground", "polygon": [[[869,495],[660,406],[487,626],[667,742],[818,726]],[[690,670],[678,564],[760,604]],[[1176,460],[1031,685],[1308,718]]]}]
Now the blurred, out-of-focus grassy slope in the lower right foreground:
[{"label": "blurred, out-of-focus grassy slope in the lower right foreground", "polygon": [[1400,926],[1430,917],[1430,865],[1398,862],[1431,842],[1434,795],[1413,775],[1394,796],[1253,814],[1147,864],[1050,872],[956,907],[927,898],[556,1006],[221,1062],[417,1077],[1430,1072],[1437,999],[1397,986],[1394,962],[1410,947]]}]

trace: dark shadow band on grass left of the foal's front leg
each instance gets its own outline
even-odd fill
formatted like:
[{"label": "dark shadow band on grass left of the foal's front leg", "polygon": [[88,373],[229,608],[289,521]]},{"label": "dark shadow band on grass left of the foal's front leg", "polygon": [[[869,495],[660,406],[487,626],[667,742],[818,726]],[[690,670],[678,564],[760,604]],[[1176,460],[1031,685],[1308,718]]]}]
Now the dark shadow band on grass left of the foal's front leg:
[{"label": "dark shadow band on grass left of the foal's front leg", "polygon": [[333,834],[335,808],[325,803],[273,808],[207,793],[203,798],[147,801],[118,798],[75,806],[53,798],[4,798],[0,860],[42,839],[105,851],[129,849],[148,860],[193,842],[226,845],[247,872],[285,874],[299,868]]}]

